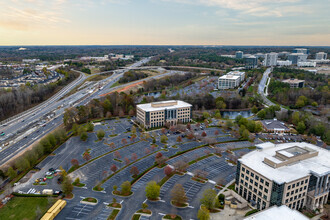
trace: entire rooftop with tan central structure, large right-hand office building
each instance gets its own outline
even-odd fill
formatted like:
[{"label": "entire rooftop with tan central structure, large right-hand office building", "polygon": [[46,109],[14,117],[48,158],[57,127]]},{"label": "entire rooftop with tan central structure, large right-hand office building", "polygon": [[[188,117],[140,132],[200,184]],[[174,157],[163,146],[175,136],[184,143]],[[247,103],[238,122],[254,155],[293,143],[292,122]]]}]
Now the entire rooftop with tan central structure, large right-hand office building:
[{"label": "entire rooftop with tan central structure, large right-hand office building", "polygon": [[[313,144],[268,142],[257,145],[257,149],[239,161],[278,184],[294,181],[310,173],[319,176],[330,173],[330,152]],[[300,159],[302,154],[307,158]]]}]

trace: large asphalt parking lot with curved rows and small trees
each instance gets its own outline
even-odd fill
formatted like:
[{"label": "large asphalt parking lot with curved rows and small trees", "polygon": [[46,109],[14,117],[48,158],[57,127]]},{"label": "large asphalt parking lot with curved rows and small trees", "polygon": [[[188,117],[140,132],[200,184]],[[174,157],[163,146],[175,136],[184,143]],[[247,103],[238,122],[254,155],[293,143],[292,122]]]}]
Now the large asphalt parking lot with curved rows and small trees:
[{"label": "large asphalt parking lot with curved rows and small trees", "polygon": [[[153,168],[145,175],[143,175],[138,181],[132,185],[133,196],[128,198],[121,198],[111,194],[113,186],[118,186],[120,190],[120,185],[124,181],[132,181],[133,177],[130,170],[133,166],[137,167],[139,173],[142,173],[152,167],[155,163],[155,155],[157,152],[161,152],[163,156],[172,157],[178,152],[184,152],[178,156],[175,156],[167,161],[168,164],[174,165],[177,161],[193,161],[200,157],[203,157],[210,153],[215,153],[215,148],[203,146],[198,149],[194,149],[201,145],[204,145],[204,141],[194,141],[188,140],[186,137],[182,138],[182,142],[177,142],[177,137],[181,134],[168,133],[168,144],[167,147],[163,143],[160,143],[161,131],[156,130],[150,132],[151,134],[156,134],[156,145],[157,147],[151,148],[152,139],[140,140],[139,132],[137,132],[137,138],[134,142],[129,140],[131,132],[128,131],[132,125],[127,119],[120,120],[110,120],[95,125],[95,132],[99,129],[103,129],[106,132],[106,136],[103,140],[97,141],[95,132],[89,133],[89,138],[86,142],[80,140],[79,137],[70,138],[65,144],[60,146],[54,155],[47,157],[38,166],[41,168],[40,171],[32,174],[29,181],[22,184],[20,187],[25,191],[31,190],[34,192],[42,191],[42,189],[60,189],[60,185],[57,184],[56,179],[53,178],[47,180],[46,186],[33,186],[32,182],[39,177],[43,177],[45,172],[50,168],[59,168],[62,166],[64,169],[68,170],[71,167],[71,160],[77,159],[79,164],[83,164],[86,161],[83,159],[82,155],[86,150],[89,150],[91,158],[99,157],[86,165],[75,170],[70,174],[72,179],[79,177],[80,182],[86,184],[83,188],[74,188],[74,199],[68,201],[67,207],[59,215],[59,219],[107,219],[108,215],[111,213],[111,208],[107,208],[103,202],[109,203],[112,198],[117,198],[117,201],[122,202],[122,211],[118,214],[118,219],[130,219],[134,212],[141,208],[141,204],[145,201],[145,186],[151,181],[160,181],[164,174],[164,168]],[[196,128],[196,131],[195,131]],[[214,137],[218,142],[225,142],[236,140],[225,133],[222,129],[211,127],[205,128],[203,130],[195,125],[192,125],[193,132],[201,133],[205,131],[207,137]],[[218,131],[218,132],[215,132]],[[216,135],[216,133],[218,133]],[[159,134],[159,135],[158,135]],[[122,140],[126,139],[127,143]],[[113,147],[109,144],[114,143]],[[175,147],[172,147],[175,145]],[[252,146],[250,142],[230,142],[217,144],[216,147],[220,147],[226,150],[228,147],[237,149],[234,151],[235,155],[243,154],[249,152],[250,149],[247,147]],[[136,155],[136,158],[133,157]],[[196,163],[188,167],[189,172],[194,172],[196,169],[205,171],[207,173],[207,178],[209,180],[217,182],[219,179],[224,179],[226,183],[230,182],[235,178],[236,166],[228,164],[226,157],[228,153],[224,152],[222,157],[211,156],[204,158],[203,160],[197,161]],[[135,161],[135,159],[137,161]],[[127,166],[127,164],[129,164]],[[102,187],[103,192],[92,191],[92,188],[100,183],[101,180],[107,178],[113,173],[110,170],[112,165],[116,165],[117,172],[111,178],[106,180]],[[185,218],[196,219],[196,215],[199,207],[199,200],[205,189],[214,188],[214,182],[199,183],[193,181],[192,176],[185,174],[183,176],[174,175],[161,187],[160,197],[161,202],[147,202],[149,208],[153,211],[153,215],[145,219],[161,219],[162,213],[171,213],[173,207],[170,204],[170,192],[176,183],[182,184],[188,197],[189,207],[184,209],[178,209],[177,212]],[[95,206],[81,204],[80,201],[83,197],[91,196],[97,198],[99,203]],[[63,214],[62,214],[63,213]]]}]

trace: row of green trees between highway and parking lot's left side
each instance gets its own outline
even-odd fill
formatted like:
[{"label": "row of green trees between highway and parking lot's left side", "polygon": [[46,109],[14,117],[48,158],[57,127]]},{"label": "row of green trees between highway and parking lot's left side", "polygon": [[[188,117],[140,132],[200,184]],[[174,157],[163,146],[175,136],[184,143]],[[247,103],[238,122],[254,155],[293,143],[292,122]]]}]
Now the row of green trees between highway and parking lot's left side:
[{"label": "row of green trees between highway and parking lot's left side", "polygon": [[3,179],[9,177],[10,180],[13,180],[20,173],[28,171],[37,165],[44,156],[53,152],[53,150],[64,143],[67,138],[68,136],[64,129],[55,130],[53,133],[42,138],[31,150],[26,151],[22,156],[15,159],[7,170],[0,170],[0,176],[2,176]]}]

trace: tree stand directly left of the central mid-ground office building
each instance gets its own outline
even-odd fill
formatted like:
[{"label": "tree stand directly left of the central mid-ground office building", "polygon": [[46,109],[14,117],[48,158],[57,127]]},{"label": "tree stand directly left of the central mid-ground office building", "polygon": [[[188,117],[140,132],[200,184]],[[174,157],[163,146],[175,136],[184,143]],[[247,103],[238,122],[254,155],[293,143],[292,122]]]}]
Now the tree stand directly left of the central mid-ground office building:
[{"label": "tree stand directly left of the central mid-ground office building", "polygon": [[66,109],[63,123],[69,130],[74,124],[83,124],[91,119],[134,114],[135,104],[132,95],[114,92],[102,100],[93,99],[87,105]]}]

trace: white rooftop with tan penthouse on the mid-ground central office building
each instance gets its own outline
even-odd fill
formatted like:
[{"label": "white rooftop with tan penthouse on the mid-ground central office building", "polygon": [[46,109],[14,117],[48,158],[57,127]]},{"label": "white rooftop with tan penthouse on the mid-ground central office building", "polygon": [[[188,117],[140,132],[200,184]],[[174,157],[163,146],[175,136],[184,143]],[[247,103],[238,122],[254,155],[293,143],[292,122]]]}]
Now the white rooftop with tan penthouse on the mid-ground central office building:
[{"label": "white rooftop with tan penthouse on the mid-ground central office building", "polygon": [[191,107],[192,105],[180,100],[169,100],[162,102],[152,102],[147,104],[137,105],[138,108],[143,111],[160,111],[164,109],[176,109],[176,108],[185,108]]}]

